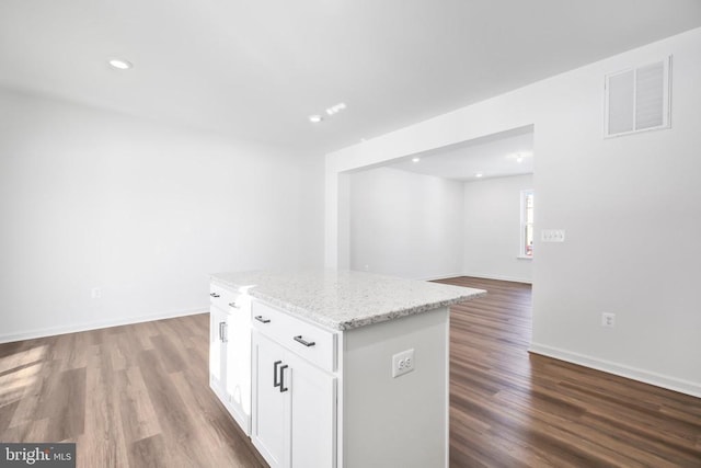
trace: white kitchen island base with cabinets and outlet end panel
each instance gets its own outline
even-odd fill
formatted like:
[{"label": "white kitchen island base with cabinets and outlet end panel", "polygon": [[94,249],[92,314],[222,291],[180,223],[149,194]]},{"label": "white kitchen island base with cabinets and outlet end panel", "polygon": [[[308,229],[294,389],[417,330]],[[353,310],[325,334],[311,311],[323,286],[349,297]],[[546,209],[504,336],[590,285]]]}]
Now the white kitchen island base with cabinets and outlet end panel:
[{"label": "white kitchen island base with cabinets and outlet end panel", "polygon": [[342,331],[250,287],[212,282],[210,386],[271,467],[448,466],[447,307]]}]

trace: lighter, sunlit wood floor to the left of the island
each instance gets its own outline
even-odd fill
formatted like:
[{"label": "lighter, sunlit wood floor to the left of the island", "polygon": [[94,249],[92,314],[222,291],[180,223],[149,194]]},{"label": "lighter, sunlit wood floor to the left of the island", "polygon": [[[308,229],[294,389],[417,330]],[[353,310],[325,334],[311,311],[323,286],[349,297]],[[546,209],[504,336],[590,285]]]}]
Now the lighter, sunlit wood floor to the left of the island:
[{"label": "lighter, sunlit wood floor to the left of the island", "polygon": [[0,345],[0,441],[79,467],[265,467],[208,387],[209,315]]}]

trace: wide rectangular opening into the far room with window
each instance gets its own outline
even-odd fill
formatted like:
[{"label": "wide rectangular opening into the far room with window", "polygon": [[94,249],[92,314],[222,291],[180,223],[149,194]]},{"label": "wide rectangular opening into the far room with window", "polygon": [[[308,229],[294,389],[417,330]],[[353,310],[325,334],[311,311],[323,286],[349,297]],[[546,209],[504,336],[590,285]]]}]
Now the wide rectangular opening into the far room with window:
[{"label": "wide rectangular opening into the far room with window", "polygon": [[530,125],[346,174],[347,266],[531,283],[533,160]]}]

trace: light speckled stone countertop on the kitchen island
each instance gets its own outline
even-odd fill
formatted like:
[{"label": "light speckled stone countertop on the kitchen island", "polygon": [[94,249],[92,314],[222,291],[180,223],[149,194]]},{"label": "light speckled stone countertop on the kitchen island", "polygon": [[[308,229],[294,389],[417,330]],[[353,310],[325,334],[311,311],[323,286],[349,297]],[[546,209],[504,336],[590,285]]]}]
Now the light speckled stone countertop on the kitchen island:
[{"label": "light speckled stone countertop on the kitchen island", "polygon": [[335,270],[216,273],[210,278],[334,330],[393,320],[486,294],[483,289]]}]

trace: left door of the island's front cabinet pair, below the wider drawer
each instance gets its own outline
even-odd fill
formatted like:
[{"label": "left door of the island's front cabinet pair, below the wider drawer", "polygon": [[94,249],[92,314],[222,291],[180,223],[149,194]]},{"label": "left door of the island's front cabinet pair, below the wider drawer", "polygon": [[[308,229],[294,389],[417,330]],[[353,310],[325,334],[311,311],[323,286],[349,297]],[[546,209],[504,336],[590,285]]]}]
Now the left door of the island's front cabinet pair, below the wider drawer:
[{"label": "left door of the island's front cabinet pair, below the wider drawer", "polygon": [[[251,440],[271,467],[289,466],[289,396],[284,373],[285,349],[258,332],[253,333],[253,427]],[[277,385],[276,385],[277,384]]]}]

